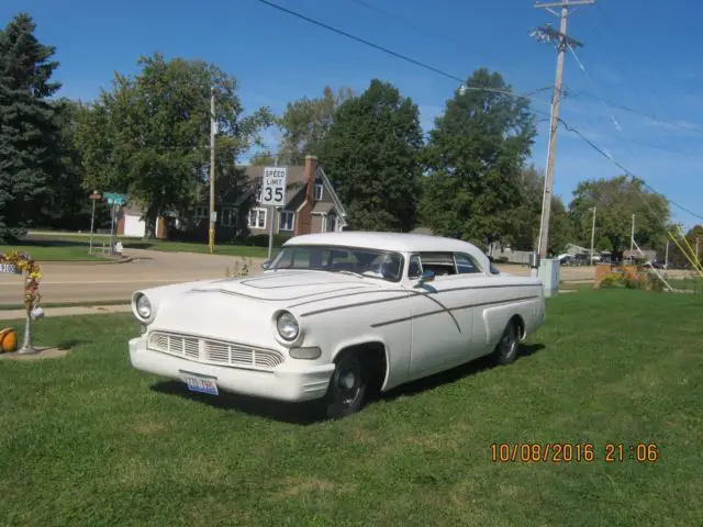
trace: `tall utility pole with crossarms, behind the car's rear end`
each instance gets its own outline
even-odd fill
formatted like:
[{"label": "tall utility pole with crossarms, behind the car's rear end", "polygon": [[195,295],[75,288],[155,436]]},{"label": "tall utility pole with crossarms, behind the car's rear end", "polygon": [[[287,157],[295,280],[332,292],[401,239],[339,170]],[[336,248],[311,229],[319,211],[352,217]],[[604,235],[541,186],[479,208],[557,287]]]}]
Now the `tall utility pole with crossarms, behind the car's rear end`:
[{"label": "tall utility pole with crossarms, behind the car's rear end", "polygon": [[[582,47],[583,44],[567,36],[567,20],[569,14],[579,5],[595,3],[595,0],[562,0],[558,2],[536,3],[535,8],[546,9],[551,14],[559,16],[559,31],[551,27],[550,24],[543,25],[531,35],[539,42],[557,42],[557,75],[551,97],[551,120],[549,124],[549,144],[547,147],[547,173],[545,177],[544,197],[542,201],[542,218],[539,223],[539,258],[546,258],[547,244],[549,238],[549,216],[551,213],[551,194],[554,189],[554,162],[557,148],[557,127],[559,126],[559,103],[561,101],[561,77],[563,72],[563,58],[569,46]],[[561,12],[555,11],[553,8],[561,8]]]}]

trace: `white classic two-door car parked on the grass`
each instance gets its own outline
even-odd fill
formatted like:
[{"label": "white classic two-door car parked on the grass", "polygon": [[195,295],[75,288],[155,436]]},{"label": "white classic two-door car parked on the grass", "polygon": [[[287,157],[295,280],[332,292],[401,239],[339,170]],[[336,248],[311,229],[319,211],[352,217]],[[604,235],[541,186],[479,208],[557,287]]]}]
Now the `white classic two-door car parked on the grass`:
[{"label": "white classic two-door car parked on the grass", "polygon": [[334,418],[372,390],[490,354],[512,362],[545,322],[538,279],[501,273],[457,239],[310,234],[263,267],[135,292],[132,366],[215,395],[321,400]]}]

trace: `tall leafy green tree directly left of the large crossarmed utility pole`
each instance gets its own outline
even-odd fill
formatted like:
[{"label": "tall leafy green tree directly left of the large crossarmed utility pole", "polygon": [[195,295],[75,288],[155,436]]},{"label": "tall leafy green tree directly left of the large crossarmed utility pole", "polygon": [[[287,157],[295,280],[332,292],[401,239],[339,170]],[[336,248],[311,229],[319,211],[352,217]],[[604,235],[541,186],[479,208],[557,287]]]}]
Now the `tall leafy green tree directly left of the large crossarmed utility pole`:
[{"label": "tall leafy green tree directly left of the large crossarmed utility pole", "polygon": [[431,179],[421,216],[444,236],[482,247],[511,243],[524,221],[514,210],[527,204],[520,177],[536,135],[535,119],[527,100],[504,93],[511,88],[498,72],[479,69],[467,87],[447,101],[429,134]]}]

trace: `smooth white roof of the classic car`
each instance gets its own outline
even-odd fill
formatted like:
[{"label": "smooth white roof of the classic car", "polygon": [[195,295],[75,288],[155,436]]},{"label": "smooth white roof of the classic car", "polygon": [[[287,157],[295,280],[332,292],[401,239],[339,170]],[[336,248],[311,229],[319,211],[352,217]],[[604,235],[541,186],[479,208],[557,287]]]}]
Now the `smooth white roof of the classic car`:
[{"label": "smooth white roof of the classic car", "polygon": [[343,231],[341,233],[303,234],[283,244],[292,245],[332,245],[338,247],[364,247],[369,249],[393,250],[398,253],[451,251],[475,253],[479,250],[472,244],[455,238],[429,236],[414,233],[376,233],[366,231]]}]

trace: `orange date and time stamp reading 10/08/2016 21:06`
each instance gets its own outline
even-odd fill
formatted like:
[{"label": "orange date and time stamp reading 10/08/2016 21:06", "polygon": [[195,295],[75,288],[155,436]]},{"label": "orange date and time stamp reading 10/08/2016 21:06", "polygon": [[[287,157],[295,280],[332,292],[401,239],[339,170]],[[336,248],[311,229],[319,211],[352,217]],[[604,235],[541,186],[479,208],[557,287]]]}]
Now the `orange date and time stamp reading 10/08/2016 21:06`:
[{"label": "orange date and time stamp reading 10/08/2016 21:06", "polygon": [[494,442],[491,461],[494,463],[606,463],[636,461],[654,463],[659,449],[654,442],[606,442],[599,447],[592,442]]}]

